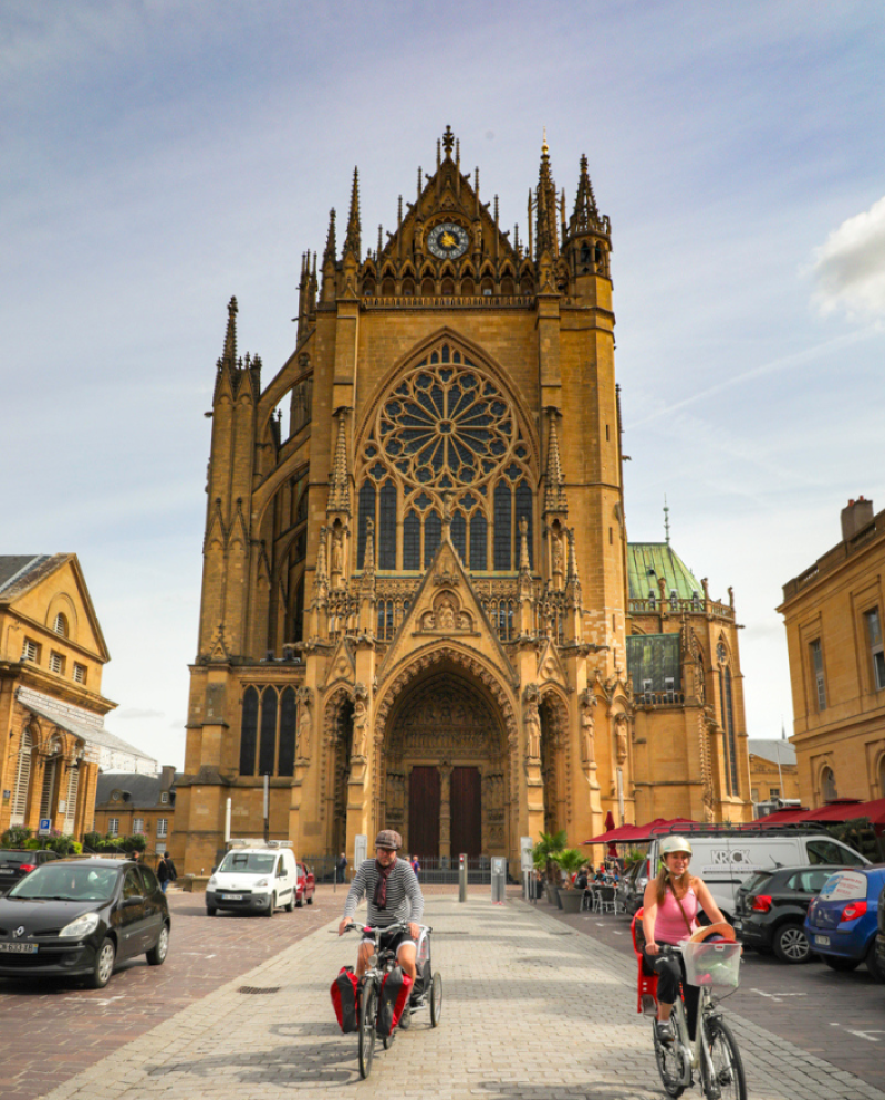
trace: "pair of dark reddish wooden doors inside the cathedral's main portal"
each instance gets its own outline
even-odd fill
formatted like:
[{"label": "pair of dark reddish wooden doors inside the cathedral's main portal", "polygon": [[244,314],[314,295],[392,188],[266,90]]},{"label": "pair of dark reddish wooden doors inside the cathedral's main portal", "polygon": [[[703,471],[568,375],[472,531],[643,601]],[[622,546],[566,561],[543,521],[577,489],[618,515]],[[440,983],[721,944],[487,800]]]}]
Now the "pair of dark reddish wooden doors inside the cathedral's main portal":
[{"label": "pair of dark reddish wooden doors inside the cathedral's main portal", "polygon": [[[446,769],[447,771],[449,769]],[[435,766],[409,772],[408,849],[419,857],[482,853],[482,782],[479,768]]]}]

